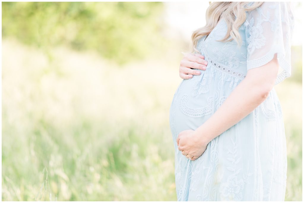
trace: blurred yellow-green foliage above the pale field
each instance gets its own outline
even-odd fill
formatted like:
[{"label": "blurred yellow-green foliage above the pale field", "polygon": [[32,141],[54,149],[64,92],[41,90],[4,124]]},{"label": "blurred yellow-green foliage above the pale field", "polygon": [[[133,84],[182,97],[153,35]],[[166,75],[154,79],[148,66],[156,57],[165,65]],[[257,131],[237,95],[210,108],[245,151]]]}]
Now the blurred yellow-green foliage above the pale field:
[{"label": "blurred yellow-green foliage above the pale field", "polygon": [[92,49],[125,64],[161,47],[162,2],[2,2],[2,36]]}]

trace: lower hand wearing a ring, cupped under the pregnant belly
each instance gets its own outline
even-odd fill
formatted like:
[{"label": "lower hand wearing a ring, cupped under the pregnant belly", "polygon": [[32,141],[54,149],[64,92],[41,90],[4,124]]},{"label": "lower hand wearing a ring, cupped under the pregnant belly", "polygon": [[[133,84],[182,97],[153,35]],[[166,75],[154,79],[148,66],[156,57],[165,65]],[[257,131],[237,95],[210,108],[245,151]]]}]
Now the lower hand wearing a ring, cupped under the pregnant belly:
[{"label": "lower hand wearing a ring, cupped under the pregnant belly", "polygon": [[[178,150],[187,158],[192,157],[191,160],[199,158],[207,149],[207,144],[202,139],[202,136],[192,129],[181,131],[176,139]],[[187,156],[188,154],[188,156]]]}]

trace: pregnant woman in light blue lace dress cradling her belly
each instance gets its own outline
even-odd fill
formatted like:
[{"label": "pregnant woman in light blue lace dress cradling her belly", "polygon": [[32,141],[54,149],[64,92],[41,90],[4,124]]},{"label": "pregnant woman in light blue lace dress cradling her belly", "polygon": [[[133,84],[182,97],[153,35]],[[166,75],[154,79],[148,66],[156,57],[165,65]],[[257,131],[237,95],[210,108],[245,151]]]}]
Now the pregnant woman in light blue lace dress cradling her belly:
[{"label": "pregnant woman in light blue lace dress cradling her belly", "polygon": [[291,75],[292,12],[290,2],[210,4],[170,107],[178,201],[284,201],[285,129],[273,87]]}]

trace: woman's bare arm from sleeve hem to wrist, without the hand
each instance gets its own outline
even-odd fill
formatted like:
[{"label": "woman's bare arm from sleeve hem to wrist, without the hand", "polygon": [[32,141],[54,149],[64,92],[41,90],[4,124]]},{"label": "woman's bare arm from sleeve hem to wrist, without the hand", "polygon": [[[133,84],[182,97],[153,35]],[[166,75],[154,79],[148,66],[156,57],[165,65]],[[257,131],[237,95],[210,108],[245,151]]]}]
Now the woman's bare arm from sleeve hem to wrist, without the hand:
[{"label": "woman's bare arm from sleeve hem to wrist, without the hand", "polygon": [[238,123],[268,97],[278,74],[277,54],[261,67],[248,70],[246,78],[232,91],[219,109],[195,134],[207,144],[215,137]]}]

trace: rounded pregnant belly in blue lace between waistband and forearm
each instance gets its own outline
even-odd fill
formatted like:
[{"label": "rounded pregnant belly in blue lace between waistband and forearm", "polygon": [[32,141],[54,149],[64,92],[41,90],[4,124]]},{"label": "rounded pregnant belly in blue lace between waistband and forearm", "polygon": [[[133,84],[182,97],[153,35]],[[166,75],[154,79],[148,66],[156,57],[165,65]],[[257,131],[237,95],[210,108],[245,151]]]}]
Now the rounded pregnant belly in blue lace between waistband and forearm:
[{"label": "rounded pregnant belly in blue lace between waistband and forearm", "polygon": [[183,130],[195,130],[205,123],[240,82],[213,68],[200,71],[201,75],[183,80],[175,91],[170,107],[174,138]]}]

